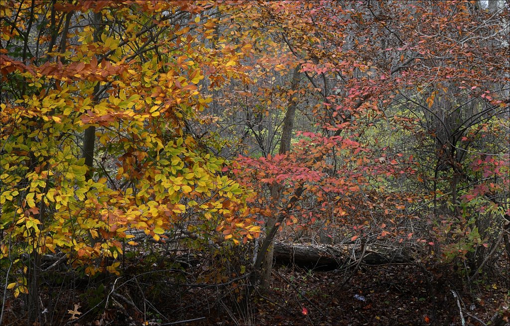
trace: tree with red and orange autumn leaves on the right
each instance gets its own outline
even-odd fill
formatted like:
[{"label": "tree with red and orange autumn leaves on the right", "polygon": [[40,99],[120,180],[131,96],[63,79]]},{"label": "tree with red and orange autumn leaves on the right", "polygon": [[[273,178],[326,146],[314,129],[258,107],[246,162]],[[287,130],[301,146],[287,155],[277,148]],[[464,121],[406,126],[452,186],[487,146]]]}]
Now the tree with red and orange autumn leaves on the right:
[{"label": "tree with red and orange autumn leaves on the right", "polygon": [[[417,137],[421,134],[436,142],[436,149],[431,151],[438,157],[436,171],[441,166],[453,169],[454,172],[446,176],[452,187],[448,196],[452,196],[454,214],[460,215],[456,189],[461,187],[463,194],[466,189],[472,189],[478,195],[480,191],[475,189],[483,182],[463,177],[465,172],[459,172],[459,159],[464,160],[465,153],[472,151],[463,148],[460,142],[467,141],[465,133],[476,126],[481,128],[477,130],[487,130],[485,122],[488,120],[497,125],[491,132],[498,132],[503,123],[501,118],[508,114],[507,89],[504,86],[488,89],[489,85],[507,84],[505,53],[508,43],[507,35],[502,32],[506,11],[507,8],[497,12],[476,11],[468,3],[457,2],[356,5],[324,2],[292,7],[272,3],[262,6],[256,17],[265,21],[266,26],[274,26],[273,31],[277,31],[281,41],[301,63],[300,72],[314,87],[314,95],[322,99],[313,108],[321,132],[303,133],[307,141],[296,146],[289,155],[260,159],[241,157],[237,173],[252,173],[251,181],[247,180],[246,184],[257,184],[256,188],[260,188],[260,183],[252,183],[255,180],[287,186],[288,197],[278,209],[279,224],[285,220],[297,222],[296,215],[313,223],[317,218],[324,218],[323,212],[331,210],[333,215],[348,216],[346,223],[358,230],[352,240],[374,231],[378,239],[416,240],[414,232],[407,231],[410,230],[407,227],[412,226],[409,218],[423,216],[420,209],[438,202],[429,201],[428,194],[419,195],[415,187],[402,191],[393,180],[418,180],[416,186],[419,187],[423,175],[417,176],[416,169],[423,168],[421,158],[427,159],[430,155],[419,152],[417,162],[410,152],[373,146],[373,140],[366,133],[374,126],[380,128],[379,121],[386,120],[411,130]],[[438,26],[443,31],[439,34],[433,32]],[[500,38],[502,35],[505,36]],[[487,42],[480,43],[477,41],[480,38]],[[480,88],[483,88],[481,93]],[[416,93],[410,95],[410,92]],[[444,93],[442,98],[448,99],[447,104],[434,108],[441,92]],[[456,101],[452,102],[452,98]],[[479,106],[475,105],[477,102]],[[410,109],[410,105],[423,111]],[[466,110],[466,105],[475,106]],[[396,109],[405,107],[410,111],[393,114]],[[414,123],[425,129],[415,129]],[[504,134],[503,131],[501,135],[507,137]],[[496,156],[489,155],[499,157],[493,167],[507,166],[507,153],[501,150],[503,148],[497,150]],[[494,162],[492,158],[490,161]],[[499,189],[497,196],[504,198],[504,186],[508,181],[501,169],[506,171],[506,168],[488,168],[502,176],[497,177],[491,187]],[[487,172],[486,177],[492,177],[492,173]],[[460,178],[466,180],[465,185],[460,185]],[[433,179],[435,183],[439,181],[437,176]],[[435,188],[431,194],[435,197],[444,193]],[[306,210],[299,205],[307,196],[313,197],[314,205],[320,208],[317,213],[311,211],[309,205]],[[472,198],[472,195],[467,196],[463,198]],[[425,202],[421,203],[423,198]],[[501,212],[506,210],[504,200],[492,201],[491,205]],[[359,223],[354,216],[359,216]],[[396,223],[397,216],[404,219]],[[462,252],[482,244],[487,246],[482,237],[473,238],[476,232],[471,232],[472,227],[466,229],[462,219],[455,221],[460,222],[459,227],[464,230],[461,233],[471,234],[469,246],[474,246],[463,247]],[[444,244],[453,248],[460,245],[457,241],[446,244],[448,241],[443,241],[444,238],[434,237],[436,241],[429,241],[427,232],[439,229],[424,227],[418,240],[428,242],[428,246]],[[500,235],[503,234],[501,231]],[[272,232],[267,236],[261,255],[270,248],[274,235]],[[465,238],[457,239],[464,241]],[[436,252],[441,253],[441,250]]]}]

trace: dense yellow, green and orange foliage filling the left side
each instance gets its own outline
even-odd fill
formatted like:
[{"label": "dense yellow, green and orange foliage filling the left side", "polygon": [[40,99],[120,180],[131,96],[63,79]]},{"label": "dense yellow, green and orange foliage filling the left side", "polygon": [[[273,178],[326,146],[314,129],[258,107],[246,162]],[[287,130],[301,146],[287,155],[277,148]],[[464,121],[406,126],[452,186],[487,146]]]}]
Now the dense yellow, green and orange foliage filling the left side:
[{"label": "dense yellow, green and orange foliage filling the left side", "polygon": [[[1,104],[0,232],[7,235],[2,259],[60,252],[74,265],[87,266],[89,274],[118,273],[119,239],[133,237],[127,230],[143,230],[160,240],[183,216],[202,220],[213,231],[228,225],[237,232],[232,231],[236,243],[257,237],[260,230],[248,219],[245,192],[219,175],[225,162],[184,129],[211,102],[202,85],[206,74],[210,87],[229,78],[249,79],[240,61],[250,45],[208,47],[190,30],[202,24],[212,37],[214,19],[196,16],[188,26],[179,26],[165,18],[211,9],[208,2],[205,7],[112,2],[95,8],[125,27],[121,38],[108,25],[94,38],[97,30],[86,23],[90,7],[57,5],[57,19],[79,10],[85,25],[64,35],[75,37],[63,42],[70,44],[65,51],[44,53],[44,60],[31,62],[1,51],[2,73],[27,85],[21,96]],[[47,23],[48,6],[52,3],[36,2],[34,11],[47,15]],[[7,17],[19,15],[17,27],[23,31],[29,19],[23,15],[30,10],[2,7]],[[9,41],[14,36],[2,24],[2,42]],[[169,40],[149,40],[152,33]],[[39,42],[49,39],[43,36]],[[96,128],[97,140],[92,170],[81,148],[90,127]],[[19,246],[8,251],[8,241]],[[113,263],[94,263],[104,257]],[[24,293],[23,284],[12,284]]]}]

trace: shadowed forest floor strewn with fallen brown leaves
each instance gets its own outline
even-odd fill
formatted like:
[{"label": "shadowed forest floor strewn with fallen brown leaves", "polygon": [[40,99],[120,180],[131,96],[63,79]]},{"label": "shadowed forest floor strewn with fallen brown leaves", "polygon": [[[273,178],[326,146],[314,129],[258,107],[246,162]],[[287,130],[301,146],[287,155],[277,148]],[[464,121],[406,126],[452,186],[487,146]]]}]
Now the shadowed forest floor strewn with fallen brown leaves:
[{"label": "shadowed forest floor strewn with fallen brown leaves", "polygon": [[[471,289],[462,288],[458,279],[457,284],[452,281],[453,270],[432,274],[413,264],[360,266],[354,273],[276,266],[271,288],[255,293],[256,299],[244,313],[232,300],[239,296],[232,290],[234,283],[223,288],[203,283],[193,286],[184,284],[183,278],[183,284],[175,286],[172,282],[178,281],[177,274],[165,279],[151,274],[150,268],[144,273],[127,269],[121,278],[103,280],[105,287],[78,280],[74,286],[47,284],[41,290],[41,300],[58,298],[52,315],[44,315],[51,317],[46,324],[76,326],[461,325],[461,318],[466,325],[483,325],[490,324],[497,311],[509,311],[506,254],[496,266]],[[198,265],[185,274],[200,269],[201,273],[206,270]],[[7,300],[4,325],[26,324],[19,301]],[[73,308],[79,313],[72,314]],[[503,324],[508,324],[508,316],[505,318]]]}]

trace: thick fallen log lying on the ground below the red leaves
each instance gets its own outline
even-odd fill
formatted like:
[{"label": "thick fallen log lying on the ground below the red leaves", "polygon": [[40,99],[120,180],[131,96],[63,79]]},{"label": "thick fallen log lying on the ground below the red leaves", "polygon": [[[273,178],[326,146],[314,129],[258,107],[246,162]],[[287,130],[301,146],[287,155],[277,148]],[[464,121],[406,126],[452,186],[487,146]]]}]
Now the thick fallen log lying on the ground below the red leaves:
[{"label": "thick fallen log lying on the ground below the red leaves", "polygon": [[[361,257],[363,253],[363,257]],[[412,258],[399,251],[382,246],[362,246],[354,244],[301,244],[274,243],[274,260],[277,264],[294,264],[314,269],[338,269],[356,263],[361,259],[365,265],[401,264],[412,262]]]}]

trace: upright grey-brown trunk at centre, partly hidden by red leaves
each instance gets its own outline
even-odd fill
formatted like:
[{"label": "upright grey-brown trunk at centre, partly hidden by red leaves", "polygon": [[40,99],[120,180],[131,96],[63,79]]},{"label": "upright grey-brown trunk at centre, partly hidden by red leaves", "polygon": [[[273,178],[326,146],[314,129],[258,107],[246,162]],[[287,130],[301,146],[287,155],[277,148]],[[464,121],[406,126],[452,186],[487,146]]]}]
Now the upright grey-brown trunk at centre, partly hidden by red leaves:
[{"label": "upright grey-brown trunk at centre, partly hidden by red leaves", "polygon": [[[291,82],[291,91],[295,91],[297,85],[299,84],[299,69],[298,65],[293,72],[292,82]],[[291,95],[292,96],[292,95]],[[289,101],[289,107],[287,108],[287,112],[285,113],[284,125],[282,129],[282,137],[280,139],[280,148],[278,150],[279,154],[285,154],[290,150],[290,141],[292,139],[292,129],[294,127],[294,116],[296,113],[297,100],[294,100],[294,97],[291,97]],[[262,287],[268,288],[271,283],[271,272],[273,269],[273,255],[274,255],[274,232],[271,232],[273,228],[279,227],[279,225],[275,225],[277,221],[277,207],[279,206],[279,197],[282,192],[282,186],[279,184],[271,184],[269,186],[271,192],[271,203],[273,216],[270,216],[266,222],[266,239],[264,241],[269,241],[269,246],[267,248],[267,252],[261,252],[260,255],[264,255],[262,270]],[[271,237],[271,233],[273,236]]]}]

